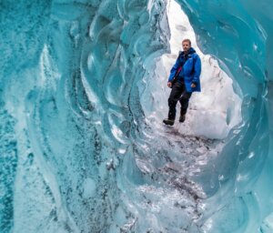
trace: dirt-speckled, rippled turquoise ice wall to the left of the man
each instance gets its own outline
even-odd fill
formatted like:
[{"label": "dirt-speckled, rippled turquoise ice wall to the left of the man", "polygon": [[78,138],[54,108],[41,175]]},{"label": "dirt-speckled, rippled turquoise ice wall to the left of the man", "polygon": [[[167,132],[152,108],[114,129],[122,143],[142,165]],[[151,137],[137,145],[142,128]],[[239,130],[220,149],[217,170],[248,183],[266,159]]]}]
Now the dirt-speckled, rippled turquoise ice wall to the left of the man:
[{"label": "dirt-speckled, rippled turquoise ice wall to the left of the man", "polygon": [[165,6],[1,3],[1,232],[140,228],[136,82],[167,49]]}]

